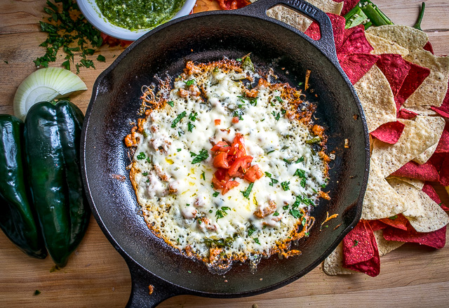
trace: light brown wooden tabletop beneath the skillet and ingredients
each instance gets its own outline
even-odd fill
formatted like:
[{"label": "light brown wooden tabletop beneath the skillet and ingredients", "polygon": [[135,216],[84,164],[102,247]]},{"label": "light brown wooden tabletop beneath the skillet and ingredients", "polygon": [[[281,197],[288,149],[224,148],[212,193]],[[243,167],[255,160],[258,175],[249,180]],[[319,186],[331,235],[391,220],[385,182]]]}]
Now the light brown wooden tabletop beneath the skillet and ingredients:
[{"label": "light brown wooden tabletop beneath the skillet and ingredients", "polygon": [[[397,24],[413,25],[421,1],[375,0]],[[426,1],[422,29],[437,55],[449,54],[449,1]],[[36,67],[32,60],[43,55],[39,32],[44,0],[0,0],[0,113],[13,113],[13,97],[23,79]],[[210,0],[197,1],[194,11],[217,9]],[[90,89],[103,69],[124,49],[102,46],[106,62],[96,69],[81,69],[79,76],[89,90],[72,99],[86,111]],[[96,58],[97,53],[95,53]],[[58,56],[60,65],[63,56]],[[7,63],[6,63],[7,62]],[[438,187],[449,201],[443,187]],[[0,213],[1,215],[1,213]],[[448,307],[449,247],[434,250],[406,244],[382,257],[381,274],[327,276],[321,266],[269,293],[237,299],[194,296],[172,297],[159,307]],[[130,274],[119,253],[92,218],[86,237],[72,254],[67,267],[51,272],[53,262],[34,260],[15,248],[0,232],[0,307],[124,307],[130,295]],[[34,295],[39,290],[41,294]]]}]

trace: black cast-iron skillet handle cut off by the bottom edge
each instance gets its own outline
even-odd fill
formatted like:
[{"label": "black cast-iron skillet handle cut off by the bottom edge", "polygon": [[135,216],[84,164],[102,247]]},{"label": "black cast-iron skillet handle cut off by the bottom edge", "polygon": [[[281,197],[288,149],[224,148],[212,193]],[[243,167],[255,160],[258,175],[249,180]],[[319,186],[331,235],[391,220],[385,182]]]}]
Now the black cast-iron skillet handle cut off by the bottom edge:
[{"label": "black cast-iron skillet handle cut off by the bottom edge", "polygon": [[[154,308],[170,297],[184,294],[179,288],[147,272],[133,260],[126,260],[126,263],[128,263],[133,283],[126,308]],[[153,286],[151,295],[149,294],[150,285]]]}]

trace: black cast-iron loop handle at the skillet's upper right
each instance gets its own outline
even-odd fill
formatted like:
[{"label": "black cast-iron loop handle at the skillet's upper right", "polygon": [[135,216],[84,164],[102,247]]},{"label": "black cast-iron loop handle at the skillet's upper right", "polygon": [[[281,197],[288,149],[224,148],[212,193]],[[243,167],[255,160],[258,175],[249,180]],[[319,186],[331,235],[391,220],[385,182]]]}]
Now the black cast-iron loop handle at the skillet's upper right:
[{"label": "black cast-iron loop handle at the skillet's upper right", "polygon": [[[310,41],[316,48],[319,48],[323,53],[325,53],[328,58],[336,59],[337,53],[335,51],[335,42],[334,35],[332,29],[332,23],[326,13],[321,11],[319,8],[312,6],[309,2],[304,0],[257,0],[253,4],[240,8],[238,11],[244,13],[246,15],[255,15],[259,18],[267,19],[267,11],[279,4],[283,4],[288,8],[291,8],[293,11],[297,11],[302,15],[306,15],[311,18],[311,20],[315,20],[318,22],[320,30],[321,30],[321,38],[317,41],[311,39],[309,36],[304,34],[298,29],[295,29],[300,36]],[[275,20],[270,18],[270,20]],[[278,21],[278,20],[276,20]],[[279,21],[278,21],[279,22]],[[290,27],[289,25],[287,25]]]}]

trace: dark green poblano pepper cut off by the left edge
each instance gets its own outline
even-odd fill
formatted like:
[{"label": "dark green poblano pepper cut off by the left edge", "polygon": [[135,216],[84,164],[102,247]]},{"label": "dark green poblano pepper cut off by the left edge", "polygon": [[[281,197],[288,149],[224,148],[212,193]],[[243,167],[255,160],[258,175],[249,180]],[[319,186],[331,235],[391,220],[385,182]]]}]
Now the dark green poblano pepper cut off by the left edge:
[{"label": "dark green poblano pepper cut off by the left edge", "polygon": [[22,133],[20,119],[0,114],[0,228],[24,253],[43,259],[47,251],[28,201]]}]

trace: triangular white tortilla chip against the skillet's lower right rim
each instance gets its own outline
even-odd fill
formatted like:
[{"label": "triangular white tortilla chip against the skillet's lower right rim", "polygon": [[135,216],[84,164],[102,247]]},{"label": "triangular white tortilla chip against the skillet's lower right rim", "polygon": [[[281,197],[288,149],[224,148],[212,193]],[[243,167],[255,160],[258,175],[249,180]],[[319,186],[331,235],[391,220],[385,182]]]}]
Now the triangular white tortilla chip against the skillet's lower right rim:
[{"label": "triangular white tortilla chip against the skillet's lower right rim", "polygon": [[371,162],[361,219],[388,218],[403,213],[407,207],[406,201],[384,179],[380,168]]}]

